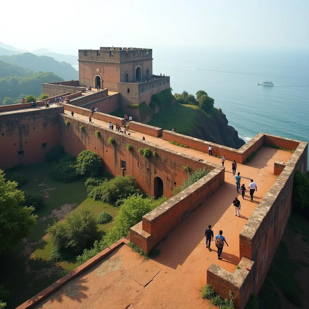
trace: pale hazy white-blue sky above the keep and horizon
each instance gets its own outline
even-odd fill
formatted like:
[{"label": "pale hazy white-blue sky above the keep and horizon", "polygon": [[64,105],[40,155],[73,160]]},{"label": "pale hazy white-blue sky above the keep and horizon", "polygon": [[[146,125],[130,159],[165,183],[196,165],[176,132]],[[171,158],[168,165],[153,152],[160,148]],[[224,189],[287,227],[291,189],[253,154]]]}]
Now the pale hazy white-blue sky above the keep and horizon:
[{"label": "pale hazy white-blue sky above the keep and horizon", "polygon": [[309,48],[308,0],[15,0],[1,11],[0,41],[30,51]]}]

